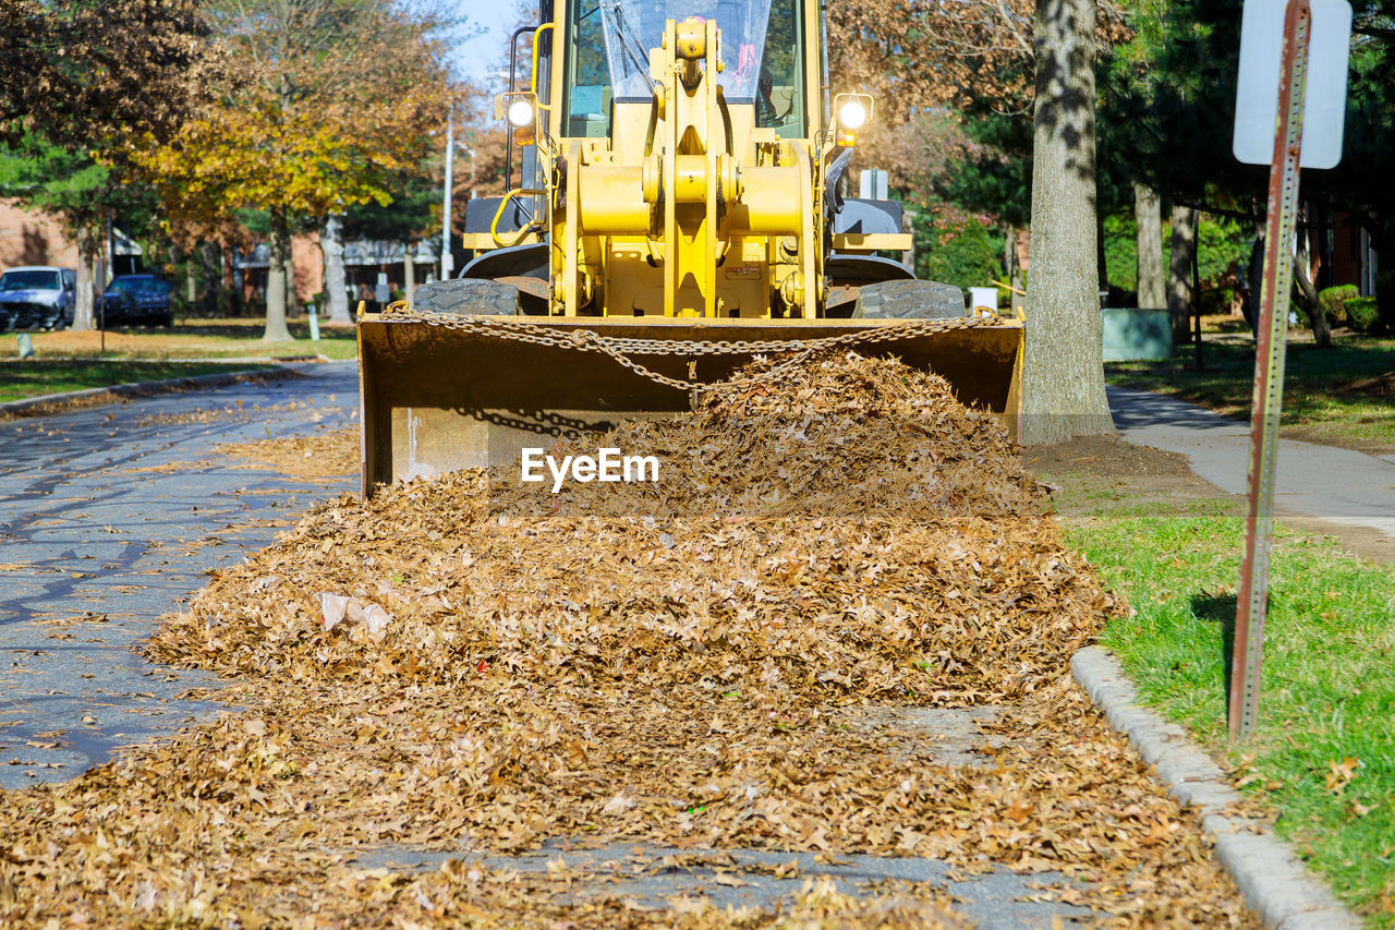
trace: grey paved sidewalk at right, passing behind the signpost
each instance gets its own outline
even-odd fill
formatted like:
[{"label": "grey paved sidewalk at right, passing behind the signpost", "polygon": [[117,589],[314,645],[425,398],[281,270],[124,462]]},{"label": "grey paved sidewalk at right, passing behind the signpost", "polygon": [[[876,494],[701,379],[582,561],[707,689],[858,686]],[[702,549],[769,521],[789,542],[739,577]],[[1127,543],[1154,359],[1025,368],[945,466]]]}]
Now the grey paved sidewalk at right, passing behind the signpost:
[{"label": "grey paved sidewalk at right, passing behind the signpost", "polygon": [[[1191,471],[1230,494],[1246,493],[1250,425],[1170,397],[1110,387],[1119,434],[1180,452]],[[1275,510],[1382,533],[1395,540],[1395,455],[1279,441]]]}]

